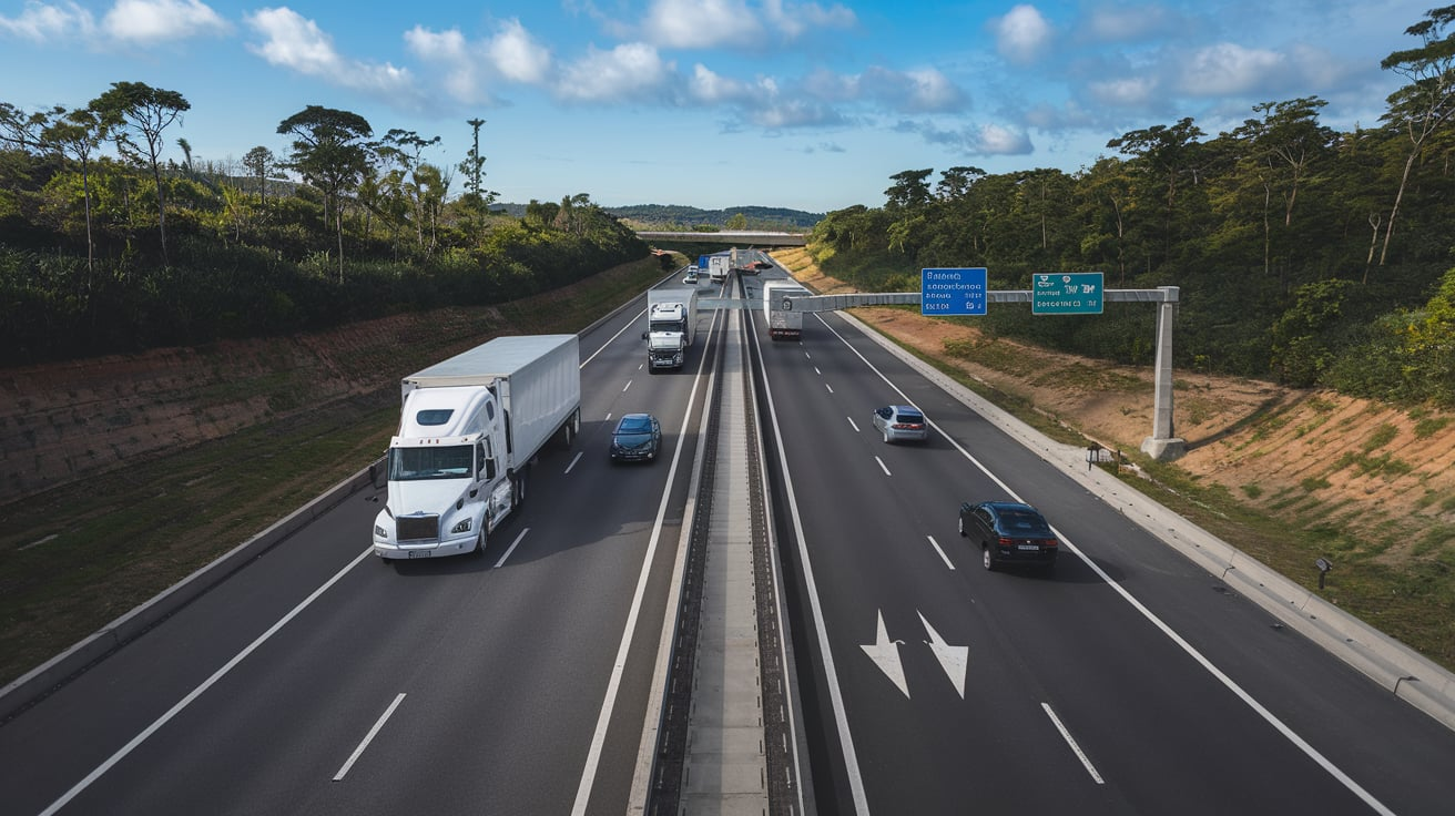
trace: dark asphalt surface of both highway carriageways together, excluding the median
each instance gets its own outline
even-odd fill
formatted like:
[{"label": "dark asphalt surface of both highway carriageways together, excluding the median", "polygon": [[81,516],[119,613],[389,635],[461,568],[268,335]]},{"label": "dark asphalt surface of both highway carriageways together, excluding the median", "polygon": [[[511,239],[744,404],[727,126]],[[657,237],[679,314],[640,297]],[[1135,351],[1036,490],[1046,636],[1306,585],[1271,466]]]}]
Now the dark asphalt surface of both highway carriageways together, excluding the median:
[{"label": "dark asphalt surface of both highway carriageways together, excluding the median", "polygon": [[[780,275],[744,276],[746,297]],[[0,726],[0,812],[627,812],[706,372],[744,342],[812,810],[1449,813],[1451,730],[850,320],[768,342],[745,316],[739,337],[704,313],[659,375],[640,298],[592,327],[582,433],[485,557],[380,563],[380,490],[355,493]],[[924,409],[928,444],[880,441],[890,401]],[[634,410],[662,455],[611,465]],[[989,497],[1046,512],[1053,573],[981,569],[956,511]]]}]

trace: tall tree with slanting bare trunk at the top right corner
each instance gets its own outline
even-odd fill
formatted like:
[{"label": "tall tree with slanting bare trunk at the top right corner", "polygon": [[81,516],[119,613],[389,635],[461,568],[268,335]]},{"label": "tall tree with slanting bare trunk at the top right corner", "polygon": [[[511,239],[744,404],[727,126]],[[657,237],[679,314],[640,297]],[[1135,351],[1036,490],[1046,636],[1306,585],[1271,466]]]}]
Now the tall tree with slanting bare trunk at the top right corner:
[{"label": "tall tree with slanting bare trunk at the top right corner", "polygon": [[1424,12],[1424,17],[1404,29],[1404,33],[1419,36],[1423,45],[1395,51],[1379,63],[1381,68],[1410,80],[1410,84],[1388,96],[1390,112],[1384,116],[1410,138],[1410,153],[1404,160],[1394,205],[1390,207],[1390,221],[1384,225],[1379,266],[1384,266],[1384,259],[1390,253],[1394,220],[1400,214],[1400,202],[1404,199],[1416,159],[1426,141],[1455,116],[1455,32],[1446,33],[1455,23],[1455,6],[1430,9]]}]

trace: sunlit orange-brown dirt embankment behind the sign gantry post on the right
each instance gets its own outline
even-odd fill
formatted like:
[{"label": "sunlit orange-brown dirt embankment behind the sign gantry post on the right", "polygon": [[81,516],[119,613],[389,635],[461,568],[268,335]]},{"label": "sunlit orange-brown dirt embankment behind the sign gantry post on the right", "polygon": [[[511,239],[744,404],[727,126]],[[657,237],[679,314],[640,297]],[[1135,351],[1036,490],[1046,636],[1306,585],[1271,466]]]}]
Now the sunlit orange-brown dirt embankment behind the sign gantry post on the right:
[{"label": "sunlit orange-brown dirt embankment behind the sign gantry post on the right", "polygon": [[[853,291],[794,253],[776,255],[816,291]],[[1152,432],[1151,368],[992,340],[906,310],[854,314],[1109,448],[1138,451]],[[1176,465],[1199,483],[1308,527],[1352,531],[1346,545],[1382,563],[1455,556],[1455,412],[1189,371],[1174,384],[1174,429],[1189,448]]]}]

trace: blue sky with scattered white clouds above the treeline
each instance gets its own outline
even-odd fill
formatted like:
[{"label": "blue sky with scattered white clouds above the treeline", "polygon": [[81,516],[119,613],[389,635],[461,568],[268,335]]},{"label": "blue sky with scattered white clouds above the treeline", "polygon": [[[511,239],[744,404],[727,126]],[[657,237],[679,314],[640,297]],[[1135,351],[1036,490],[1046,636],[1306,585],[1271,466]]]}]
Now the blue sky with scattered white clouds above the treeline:
[{"label": "blue sky with scattered white clouds above the treeline", "polygon": [[[501,201],[879,207],[901,170],[1075,172],[1183,116],[1211,137],[1318,96],[1371,127],[1430,0],[499,3],[0,0],[0,102],[179,92],[196,160],[285,154],[308,105],[441,144]],[[463,189],[455,177],[453,192]]]}]

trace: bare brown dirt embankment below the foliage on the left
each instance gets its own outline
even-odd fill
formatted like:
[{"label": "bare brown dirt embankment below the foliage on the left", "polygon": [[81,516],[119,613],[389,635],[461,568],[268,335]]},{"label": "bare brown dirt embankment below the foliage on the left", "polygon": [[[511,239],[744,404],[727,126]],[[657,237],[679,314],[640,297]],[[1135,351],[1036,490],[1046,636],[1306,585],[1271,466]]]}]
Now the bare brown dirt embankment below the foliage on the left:
[{"label": "bare brown dirt embankment below the foliage on the left", "polygon": [[313,335],[0,369],[0,505],[377,393],[413,362],[450,351],[451,337],[489,330],[492,319],[404,314]]}]

